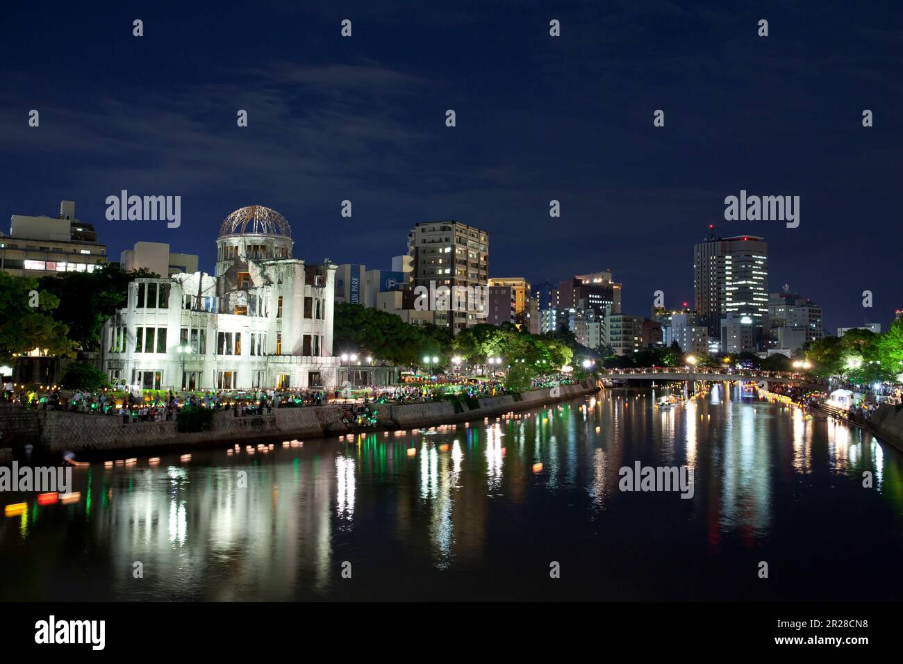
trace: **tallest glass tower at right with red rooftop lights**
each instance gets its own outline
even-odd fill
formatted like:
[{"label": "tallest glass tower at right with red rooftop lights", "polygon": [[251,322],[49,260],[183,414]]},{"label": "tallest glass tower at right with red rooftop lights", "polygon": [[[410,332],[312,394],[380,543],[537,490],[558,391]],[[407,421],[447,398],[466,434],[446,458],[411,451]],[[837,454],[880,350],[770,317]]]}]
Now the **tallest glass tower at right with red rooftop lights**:
[{"label": "tallest glass tower at right with red rooftop lights", "polygon": [[721,319],[736,314],[748,320],[758,341],[768,318],[768,244],[764,238],[738,235],[715,238],[710,232],[694,246],[695,311],[709,335],[721,334]]}]

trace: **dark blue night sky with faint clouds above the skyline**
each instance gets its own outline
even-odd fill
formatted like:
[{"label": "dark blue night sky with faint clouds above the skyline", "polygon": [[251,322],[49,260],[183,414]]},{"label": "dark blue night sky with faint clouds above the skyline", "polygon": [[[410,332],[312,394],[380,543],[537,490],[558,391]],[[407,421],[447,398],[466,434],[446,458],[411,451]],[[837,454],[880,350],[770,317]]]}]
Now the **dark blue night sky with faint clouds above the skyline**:
[{"label": "dark blue night sky with faint clouds above the skyline", "polygon": [[[368,267],[415,222],[456,219],[489,231],[490,275],[610,267],[642,314],[657,289],[692,301],[715,223],[764,236],[770,289],[822,304],[829,332],[903,307],[899,2],[12,5],[4,223],[70,199],[114,259],[166,241],[209,270],[219,223],[251,203],[289,220],[295,256]],[[182,227],[107,221],[123,189],[181,195]],[[799,228],[724,221],[740,189],[801,196]]]}]

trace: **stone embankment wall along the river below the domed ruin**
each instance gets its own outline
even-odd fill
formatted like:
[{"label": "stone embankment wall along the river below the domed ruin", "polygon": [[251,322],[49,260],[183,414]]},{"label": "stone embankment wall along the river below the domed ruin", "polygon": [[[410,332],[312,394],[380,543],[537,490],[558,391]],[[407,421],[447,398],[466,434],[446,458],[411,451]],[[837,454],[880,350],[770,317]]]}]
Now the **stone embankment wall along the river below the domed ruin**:
[{"label": "stone embankment wall along the river below the domed ruin", "polygon": [[[498,416],[590,395],[597,390],[596,384],[588,379],[584,383],[554,388],[554,396],[553,390],[537,389],[518,396],[481,398],[477,400],[478,406],[473,408],[466,404],[456,406],[451,401],[383,404],[376,407],[377,426],[368,427],[367,431],[439,426]],[[237,416],[232,410],[222,410],[213,414],[209,431],[179,433],[174,421],[124,424],[122,418],[117,416],[60,410],[23,411],[21,408],[8,407],[0,410],[0,430],[15,427],[14,440],[7,444],[33,444],[36,448],[53,454],[71,451],[90,455],[135,449],[152,452],[275,436],[303,440],[348,434],[357,430],[341,421],[342,409],[338,406],[281,407],[274,408],[269,414],[253,416]]]}]

